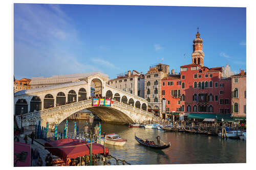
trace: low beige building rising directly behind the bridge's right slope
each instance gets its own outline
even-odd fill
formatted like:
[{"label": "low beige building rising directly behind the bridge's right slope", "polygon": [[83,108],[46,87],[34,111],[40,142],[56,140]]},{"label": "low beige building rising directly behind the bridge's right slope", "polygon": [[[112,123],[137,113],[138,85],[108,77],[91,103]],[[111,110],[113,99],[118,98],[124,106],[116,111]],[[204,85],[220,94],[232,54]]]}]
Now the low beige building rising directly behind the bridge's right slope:
[{"label": "low beige building rising directly behind the bridge's right slope", "polygon": [[118,74],[116,79],[109,81],[109,85],[144,98],[144,75],[142,72],[129,70],[125,74]]}]

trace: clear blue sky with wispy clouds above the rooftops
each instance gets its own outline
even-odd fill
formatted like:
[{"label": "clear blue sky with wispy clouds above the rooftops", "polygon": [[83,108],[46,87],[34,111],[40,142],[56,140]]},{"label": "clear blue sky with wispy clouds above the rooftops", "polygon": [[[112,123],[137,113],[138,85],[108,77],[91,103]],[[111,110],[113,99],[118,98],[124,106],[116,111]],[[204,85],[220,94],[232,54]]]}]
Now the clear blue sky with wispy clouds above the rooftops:
[{"label": "clear blue sky with wispy clouds above the rooftops", "polygon": [[246,8],[14,4],[14,76],[179,72],[197,27],[205,66],[246,69]]}]

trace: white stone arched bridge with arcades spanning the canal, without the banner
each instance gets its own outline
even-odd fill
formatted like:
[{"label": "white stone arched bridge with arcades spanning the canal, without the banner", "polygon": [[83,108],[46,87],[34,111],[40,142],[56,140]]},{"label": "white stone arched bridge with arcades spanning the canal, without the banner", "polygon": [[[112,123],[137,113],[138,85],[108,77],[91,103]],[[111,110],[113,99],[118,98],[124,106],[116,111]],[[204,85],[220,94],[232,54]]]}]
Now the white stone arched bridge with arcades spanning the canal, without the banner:
[{"label": "white stone arched bridge with arcades spanning the canal, without the banner", "polygon": [[[110,107],[93,106],[91,89],[95,96],[114,99]],[[99,74],[75,82],[18,91],[14,94],[14,114],[18,126],[35,125],[40,120],[45,126],[60,124],[70,115],[88,109],[102,121],[116,123],[139,123],[144,120],[161,121],[160,117],[147,112],[147,101],[139,96],[112,87]],[[51,128],[51,127],[50,127]]]}]

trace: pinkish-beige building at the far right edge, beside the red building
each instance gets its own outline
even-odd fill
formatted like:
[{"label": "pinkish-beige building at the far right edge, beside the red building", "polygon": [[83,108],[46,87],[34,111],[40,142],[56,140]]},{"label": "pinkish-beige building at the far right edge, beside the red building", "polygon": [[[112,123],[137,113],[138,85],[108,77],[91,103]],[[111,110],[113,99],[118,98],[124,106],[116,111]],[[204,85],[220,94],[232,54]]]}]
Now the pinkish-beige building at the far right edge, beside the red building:
[{"label": "pinkish-beige building at the far right edge, beside the red building", "polygon": [[246,72],[241,70],[238,75],[231,76],[232,114],[236,120],[246,119]]}]

